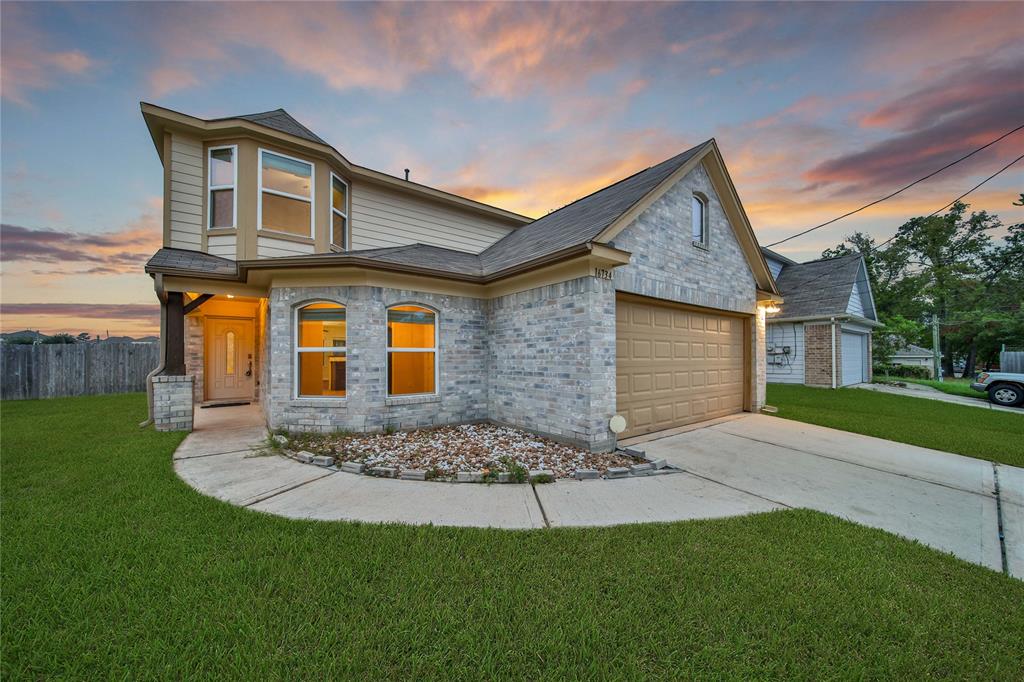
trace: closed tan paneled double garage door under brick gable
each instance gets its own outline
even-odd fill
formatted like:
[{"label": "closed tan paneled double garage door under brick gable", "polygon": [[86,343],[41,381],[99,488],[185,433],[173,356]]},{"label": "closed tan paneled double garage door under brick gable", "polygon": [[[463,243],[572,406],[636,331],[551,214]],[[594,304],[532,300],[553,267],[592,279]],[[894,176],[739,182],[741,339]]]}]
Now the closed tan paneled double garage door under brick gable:
[{"label": "closed tan paneled double garage door under brick gable", "polygon": [[746,318],[622,296],[615,312],[620,437],[742,411]]}]

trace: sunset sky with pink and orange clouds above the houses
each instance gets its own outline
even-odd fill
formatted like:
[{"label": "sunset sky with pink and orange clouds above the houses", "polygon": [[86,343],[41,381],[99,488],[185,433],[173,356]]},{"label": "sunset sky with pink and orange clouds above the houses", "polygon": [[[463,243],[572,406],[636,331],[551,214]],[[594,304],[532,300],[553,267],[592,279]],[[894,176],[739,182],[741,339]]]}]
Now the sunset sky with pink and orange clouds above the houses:
[{"label": "sunset sky with pink and orange clouds above the houses", "polygon": [[[157,329],[139,100],[287,109],[353,162],[541,216],[716,137],[762,244],[1024,124],[1024,4],[2,4],[3,331]],[[888,239],[1024,130],[852,218]],[[969,203],[1005,223],[1024,162]]]}]

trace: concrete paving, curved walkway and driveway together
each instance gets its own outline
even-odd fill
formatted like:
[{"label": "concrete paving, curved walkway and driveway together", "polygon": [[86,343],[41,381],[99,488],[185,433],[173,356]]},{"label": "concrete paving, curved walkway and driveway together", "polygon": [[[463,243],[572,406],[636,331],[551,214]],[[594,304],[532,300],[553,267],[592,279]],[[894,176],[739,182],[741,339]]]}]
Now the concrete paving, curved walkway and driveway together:
[{"label": "concrete paving, curved walkway and driveway together", "polygon": [[255,407],[197,411],[175,471],[239,506],[324,520],[542,528],[807,507],[996,570],[1005,551],[1011,573],[1024,578],[1024,469],[774,417],[744,415],[639,445],[684,473],[536,487],[355,476],[260,455],[265,436]]}]

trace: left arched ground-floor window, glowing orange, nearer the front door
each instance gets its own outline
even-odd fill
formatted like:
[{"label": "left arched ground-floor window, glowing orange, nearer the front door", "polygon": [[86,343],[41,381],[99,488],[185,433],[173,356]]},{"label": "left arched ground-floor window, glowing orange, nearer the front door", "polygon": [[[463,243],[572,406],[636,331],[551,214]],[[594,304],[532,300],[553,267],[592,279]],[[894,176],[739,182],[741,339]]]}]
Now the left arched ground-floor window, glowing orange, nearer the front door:
[{"label": "left arched ground-floor window, glowing orange, nearer the front door", "polygon": [[296,310],[295,394],[345,396],[345,306],[310,303]]}]

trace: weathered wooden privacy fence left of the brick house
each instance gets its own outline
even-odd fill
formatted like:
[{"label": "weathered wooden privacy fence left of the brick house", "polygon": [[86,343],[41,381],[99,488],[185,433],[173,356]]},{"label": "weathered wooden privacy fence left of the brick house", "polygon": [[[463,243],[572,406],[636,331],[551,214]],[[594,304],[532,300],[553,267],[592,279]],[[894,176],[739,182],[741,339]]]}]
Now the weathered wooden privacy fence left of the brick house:
[{"label": "weathered wooden privacy fence left of the brick house", "polygon": [[62,397],[145,390],[160,363],[157,343],[0,344],[0,398]]}]

